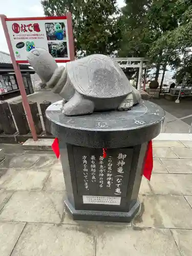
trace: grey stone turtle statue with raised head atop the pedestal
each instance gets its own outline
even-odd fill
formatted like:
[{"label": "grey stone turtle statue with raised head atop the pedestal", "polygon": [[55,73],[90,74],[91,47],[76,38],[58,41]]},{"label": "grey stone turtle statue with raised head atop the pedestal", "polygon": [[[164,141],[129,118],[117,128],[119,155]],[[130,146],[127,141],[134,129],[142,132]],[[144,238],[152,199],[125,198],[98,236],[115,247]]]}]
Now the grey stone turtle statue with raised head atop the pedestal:
[{"label": "grey stone turtle statue with raised head atop the pedestal", "polygon": [[62,113],[67,116],[94,111],[127,111],[141,100],[118,63],[112,58],[93,54],[58,67],[49,52],[35,48],[28,61],[41,78],[63,98]]}]

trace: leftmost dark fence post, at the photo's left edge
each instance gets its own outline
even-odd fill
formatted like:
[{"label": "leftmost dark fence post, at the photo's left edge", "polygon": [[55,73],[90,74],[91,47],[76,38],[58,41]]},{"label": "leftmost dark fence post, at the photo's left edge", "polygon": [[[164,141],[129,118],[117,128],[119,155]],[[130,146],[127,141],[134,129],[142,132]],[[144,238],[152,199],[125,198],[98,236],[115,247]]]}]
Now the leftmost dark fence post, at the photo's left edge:
[{"label": "leftmost dark fence post, at the photo's left edge", "polygon": [[9,135],[16,133],[17,130],[13,121],[9,104],[6,101],[0,102],[0,123],[5,134]]}]

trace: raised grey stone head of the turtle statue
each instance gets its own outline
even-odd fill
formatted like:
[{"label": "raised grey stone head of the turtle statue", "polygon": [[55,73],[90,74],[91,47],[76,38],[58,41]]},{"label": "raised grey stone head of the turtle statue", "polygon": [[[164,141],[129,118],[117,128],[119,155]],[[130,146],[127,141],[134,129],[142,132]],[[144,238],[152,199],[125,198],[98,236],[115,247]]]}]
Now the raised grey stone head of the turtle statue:
[{"label": "raised grey stone head of the turtle statue", "polygon": [[48,82],[58,68],[51,54],[44,48],[32,49],[28,53],[27,59],[42,82]]}]

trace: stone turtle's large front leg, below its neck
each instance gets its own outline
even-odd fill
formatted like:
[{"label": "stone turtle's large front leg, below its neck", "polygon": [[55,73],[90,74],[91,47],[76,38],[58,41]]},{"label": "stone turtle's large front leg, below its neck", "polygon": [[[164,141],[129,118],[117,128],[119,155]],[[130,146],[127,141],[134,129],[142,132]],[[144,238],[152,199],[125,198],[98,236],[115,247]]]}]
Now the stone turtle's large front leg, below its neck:
[{"label": "stone turtle's large front leg, below its neck", "polygon": [[91,114],[94,111],[94,102],[84,98],[83,95],[75,91],[73,97],[63,105],[62,113],[66,116],[78,116]]}]

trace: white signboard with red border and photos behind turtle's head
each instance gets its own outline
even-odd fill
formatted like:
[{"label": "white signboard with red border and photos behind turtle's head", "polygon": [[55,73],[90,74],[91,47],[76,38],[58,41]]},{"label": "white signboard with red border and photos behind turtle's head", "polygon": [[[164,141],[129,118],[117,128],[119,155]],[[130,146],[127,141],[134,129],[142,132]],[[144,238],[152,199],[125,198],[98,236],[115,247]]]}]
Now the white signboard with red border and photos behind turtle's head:
[{"label": "white signboard with red border and photos behind turtle's head", "polygon": [[17,63],[28,62],[27,54],[45,48],[56,62],[70,60],[67,17],[6,18]]}]

